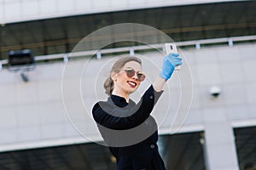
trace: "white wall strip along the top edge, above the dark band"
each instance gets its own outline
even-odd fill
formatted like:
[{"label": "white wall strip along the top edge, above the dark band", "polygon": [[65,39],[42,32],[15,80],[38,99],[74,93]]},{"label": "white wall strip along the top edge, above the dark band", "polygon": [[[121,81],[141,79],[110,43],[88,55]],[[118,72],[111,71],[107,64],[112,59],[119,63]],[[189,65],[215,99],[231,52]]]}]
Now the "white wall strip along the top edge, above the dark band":
[{"label": "white wall strip along the top edge, above the dark band", "polygon": [[227,1],[231,0],[0,0],[0,24],[76,14]]}]

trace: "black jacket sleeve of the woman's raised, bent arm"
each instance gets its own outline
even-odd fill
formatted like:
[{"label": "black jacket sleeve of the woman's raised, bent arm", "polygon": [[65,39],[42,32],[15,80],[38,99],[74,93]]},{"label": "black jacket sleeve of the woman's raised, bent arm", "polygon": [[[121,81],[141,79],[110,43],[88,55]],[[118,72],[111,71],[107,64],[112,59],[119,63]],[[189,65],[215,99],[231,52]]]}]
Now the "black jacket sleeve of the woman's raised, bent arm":
[{"label": "black jacket sleeve of the woman's raised, bent arm", "polygon": [[115,130],[137,127],[148,118],[155,103],[160,98],[160,94],[162,92],[157,93],[150,86],[137,105],[133,107],[119,108],[118,106],[110,105],[108,102],[97,103],[92,109],[92,114],[95,121],[103,127]]}]

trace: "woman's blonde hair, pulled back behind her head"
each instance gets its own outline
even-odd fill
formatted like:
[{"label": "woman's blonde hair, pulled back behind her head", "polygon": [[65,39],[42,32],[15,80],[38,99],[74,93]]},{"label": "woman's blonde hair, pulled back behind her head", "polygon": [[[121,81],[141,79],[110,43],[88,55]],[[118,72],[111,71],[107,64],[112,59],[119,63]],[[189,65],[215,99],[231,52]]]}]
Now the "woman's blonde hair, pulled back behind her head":
[{"label": "woman's blonde hair, pulled back behind her head", "polygon": [[113,79],[111,78],[111,73],[119,73],[119,70],[124,67],[124,65],[130,61],[136,61],[138,64],[142,65],[142,60],[134,57],[134,56],[125,56],[117,61],[112,66],[112,69],[110,71],[109,77],[105,80],[104,82],[104,88],[105,88],[105,93],[110,95],[113,92]]}]

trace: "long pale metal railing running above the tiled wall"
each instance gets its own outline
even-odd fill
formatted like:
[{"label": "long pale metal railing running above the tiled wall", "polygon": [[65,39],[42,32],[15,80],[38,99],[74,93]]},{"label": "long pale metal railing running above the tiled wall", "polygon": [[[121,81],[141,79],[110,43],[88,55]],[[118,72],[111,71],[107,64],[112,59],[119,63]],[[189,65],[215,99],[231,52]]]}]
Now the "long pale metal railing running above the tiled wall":
[{"label": "long pale metal railing running above the tiled wall", "polygon": [[[247,42],[247,41],[255,41],[256,36],[245,36],[245,37],[222,37],[222,38],[213,38],[213,39],[203,39],[203,40],[193,40],[186,42],[175,42],[177,47],[186,47],[186,46],[195,46],[195,48],[200,49],[201,45],[216,45],[222,42],[226,42],[228,46],[233,46],[235,42]],[[69,54],[49,54],[49,55],[40,55],[36,56],[35,60],[50,60],[50,59],[63,59],[64,62],[67,62],[69,58],[81,57],[81,56],[90,56],[96,54],[97,59],[102,58],[102,54],[115,54],[115,53],[126,53],[135,54],[135,51],[142,51],[148,49],[161,49],[164,48],[163,43],[157,44],[148,44],[148,45],[140,45],[133,47],[123,47],[123,48],[107,48],[100,50],[90,50],[83,52],[74,52]],[[0,60],[0,69],[3,68],[3,65],[8,64],[8,59]]]}]

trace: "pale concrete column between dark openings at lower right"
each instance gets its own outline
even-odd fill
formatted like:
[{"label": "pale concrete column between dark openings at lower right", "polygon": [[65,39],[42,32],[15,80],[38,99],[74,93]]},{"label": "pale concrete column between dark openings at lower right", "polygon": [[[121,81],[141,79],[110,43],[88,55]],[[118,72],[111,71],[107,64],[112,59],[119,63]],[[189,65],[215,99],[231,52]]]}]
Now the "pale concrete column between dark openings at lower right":
[{"label": "pale concrete column between dark openings at lower right", "polygon": [[207,170],[239,170],[233,128],[224,110],[207,109],[204,118]]}]

